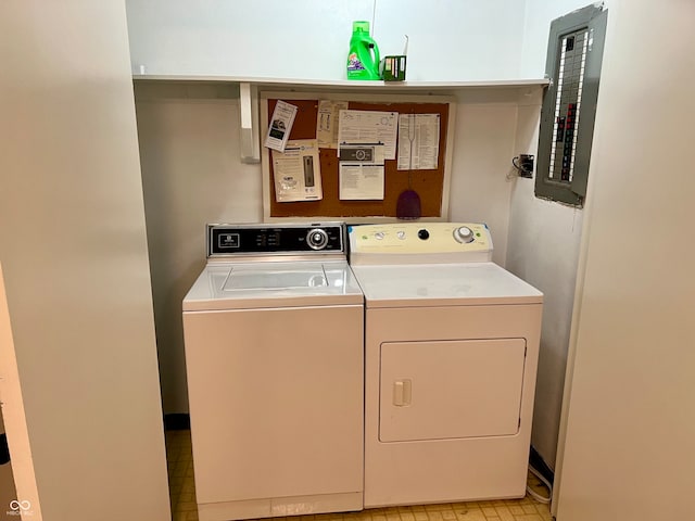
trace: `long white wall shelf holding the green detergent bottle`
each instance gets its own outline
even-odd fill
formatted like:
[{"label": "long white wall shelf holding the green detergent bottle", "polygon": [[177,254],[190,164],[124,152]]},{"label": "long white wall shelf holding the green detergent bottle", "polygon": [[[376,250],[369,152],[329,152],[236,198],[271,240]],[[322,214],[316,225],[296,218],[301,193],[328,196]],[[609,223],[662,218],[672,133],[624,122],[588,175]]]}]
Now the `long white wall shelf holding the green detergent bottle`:
[{"label": "long white wall shelf holding the green detergent bottle", "polygon": [[250,78],[239,76],[199,76],[199,75],[149,75],[136,74],[134,81],[170,81],[199,84],[251,84],[258,88],[306,89],[320,87],[323,89],[359,89],[359,90],[459,90],[459,89],[490,89],[490,88],[520,88],[545,87],[545,78],[530,79],[497,79],[476,81],[368,81],[349,79],[300,79],[300,78]]}]

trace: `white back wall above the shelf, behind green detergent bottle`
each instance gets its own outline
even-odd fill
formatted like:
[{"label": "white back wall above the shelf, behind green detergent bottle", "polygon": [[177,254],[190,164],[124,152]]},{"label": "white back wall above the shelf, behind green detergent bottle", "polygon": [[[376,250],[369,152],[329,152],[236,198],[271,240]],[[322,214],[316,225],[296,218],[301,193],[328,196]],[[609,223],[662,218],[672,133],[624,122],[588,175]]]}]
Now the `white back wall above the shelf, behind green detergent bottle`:
[{"label": "white back wall above the shelf, behind green detergent bottle", "polygon": [[[352,22],[412,80],[519,77],[525,2],[127,0],[134,73],[345,79]],[[375,9],[376,5],[376,9]],[[483,42],[481,45],[481,42]]]}]

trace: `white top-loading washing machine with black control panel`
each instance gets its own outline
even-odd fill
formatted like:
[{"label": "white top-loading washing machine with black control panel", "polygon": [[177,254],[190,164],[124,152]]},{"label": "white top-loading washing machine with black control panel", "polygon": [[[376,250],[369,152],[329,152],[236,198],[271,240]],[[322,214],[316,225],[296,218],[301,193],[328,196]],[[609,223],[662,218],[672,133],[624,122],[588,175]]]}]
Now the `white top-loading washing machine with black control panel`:
[{"label": "white top-loading washing machine with black control panel", "polygon": [[184,300],[201,521],[363,508],[364,306],[342,224],[208,226]]}]

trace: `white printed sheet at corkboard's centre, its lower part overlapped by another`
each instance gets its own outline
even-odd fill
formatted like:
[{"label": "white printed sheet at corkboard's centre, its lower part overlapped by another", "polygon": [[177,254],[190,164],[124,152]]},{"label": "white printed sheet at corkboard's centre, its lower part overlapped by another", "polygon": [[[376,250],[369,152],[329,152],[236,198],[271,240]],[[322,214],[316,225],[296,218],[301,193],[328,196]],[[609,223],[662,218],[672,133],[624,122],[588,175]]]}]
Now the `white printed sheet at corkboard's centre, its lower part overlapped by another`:
[{"label": "white printed sheet at corkboard's centre, its lower part overlapped by another", "polygon": [[383,156],[395,158],[397,112],[340,111],[339,143],[382,143]]}]

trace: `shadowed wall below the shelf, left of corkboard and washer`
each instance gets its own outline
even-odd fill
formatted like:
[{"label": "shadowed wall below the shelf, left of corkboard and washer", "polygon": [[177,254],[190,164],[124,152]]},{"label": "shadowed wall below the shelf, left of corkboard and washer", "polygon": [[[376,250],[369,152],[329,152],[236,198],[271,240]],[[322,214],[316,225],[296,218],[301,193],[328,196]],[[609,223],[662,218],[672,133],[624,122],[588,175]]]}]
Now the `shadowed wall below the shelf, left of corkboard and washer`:
[{"label": "shadowed wall below the shelf, left of corkboard and washer", "polygon": [[166,412],[188,411],[181,301],[205,265],[207,223],[263,220],[260,165],[239,161],[239,102],[138,96],[140,161]]}]

